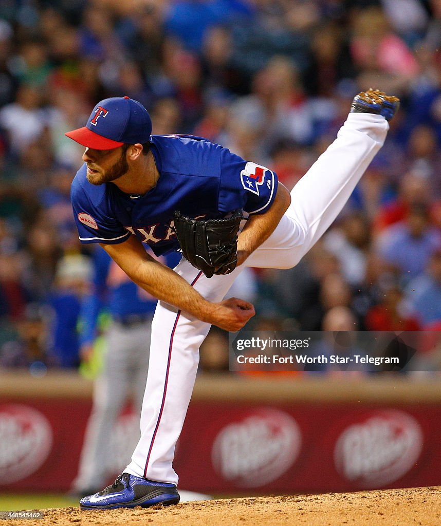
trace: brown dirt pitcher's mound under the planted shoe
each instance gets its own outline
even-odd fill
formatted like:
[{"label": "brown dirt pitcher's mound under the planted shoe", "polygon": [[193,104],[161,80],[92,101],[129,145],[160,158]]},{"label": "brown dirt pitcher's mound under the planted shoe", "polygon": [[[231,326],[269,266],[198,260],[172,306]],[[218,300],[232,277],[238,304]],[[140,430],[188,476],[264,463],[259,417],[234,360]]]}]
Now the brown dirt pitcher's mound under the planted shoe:
[{"label": "brown dirt pitcher's mound under the planted shoe", "polygon": [[43,520],[5,521],[2,526],[439,526],[441,486],[292,497],[256,497],[185,502],[167,508],[81,511],[44,510]]}]

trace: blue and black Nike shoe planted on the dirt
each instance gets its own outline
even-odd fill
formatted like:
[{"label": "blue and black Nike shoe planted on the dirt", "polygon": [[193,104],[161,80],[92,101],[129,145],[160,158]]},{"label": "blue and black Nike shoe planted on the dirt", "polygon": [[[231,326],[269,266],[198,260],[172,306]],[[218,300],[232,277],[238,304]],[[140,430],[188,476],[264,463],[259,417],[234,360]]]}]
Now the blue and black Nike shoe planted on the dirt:
[{"label": "blue and black Nike shoe planted on the dirt", "polygon": [[154,504],[177,504],[179,493],[175,484],[154,482],[123,473],[112,485],[79,501],[82,510],[113,510],[115,508],[148,508]]}]

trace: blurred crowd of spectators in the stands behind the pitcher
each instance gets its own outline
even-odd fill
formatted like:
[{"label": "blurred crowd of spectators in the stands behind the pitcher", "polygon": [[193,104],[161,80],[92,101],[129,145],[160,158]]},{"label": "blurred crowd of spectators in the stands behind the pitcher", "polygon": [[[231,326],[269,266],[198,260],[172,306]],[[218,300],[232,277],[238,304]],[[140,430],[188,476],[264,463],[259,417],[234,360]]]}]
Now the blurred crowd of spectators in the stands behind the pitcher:
[{"label": "blurred crowd of spectators in the stands behind the pitcher", "polygon": [[[441,330],[441,4],[3,0],[0,366],[79,365],[93,268],[64,132],[98,100],[131,96],[154,134],[206,137],[292,188],[369,87],[402,100],[386,144],[297,267],[246,272],[250,328]],[[224,336],[202,367],[225,367]]]}]

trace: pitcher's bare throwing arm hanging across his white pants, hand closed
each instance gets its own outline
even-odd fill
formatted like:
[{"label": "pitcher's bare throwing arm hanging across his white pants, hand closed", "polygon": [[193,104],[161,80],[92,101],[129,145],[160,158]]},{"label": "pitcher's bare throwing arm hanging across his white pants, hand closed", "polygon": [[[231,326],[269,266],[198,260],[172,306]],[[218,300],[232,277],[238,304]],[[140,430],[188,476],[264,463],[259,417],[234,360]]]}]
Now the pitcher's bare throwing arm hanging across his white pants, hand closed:
[{"label": "pitcher's bare throwing arm hanging across his white pants, hand closed", "polygon": [[207,301],[176,272],[149,256],[135,236],[116,245],[101,246],[139,287],[195,318],[237,331],[255,314],[253,305],[242,299]]}]

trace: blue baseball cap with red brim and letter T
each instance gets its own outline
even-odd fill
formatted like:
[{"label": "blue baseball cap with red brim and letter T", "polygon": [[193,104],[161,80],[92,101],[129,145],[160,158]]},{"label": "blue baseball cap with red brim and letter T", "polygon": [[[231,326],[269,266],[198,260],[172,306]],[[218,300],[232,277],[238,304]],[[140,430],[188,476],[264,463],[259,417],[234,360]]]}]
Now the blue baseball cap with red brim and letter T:
[{"label": "blue baseball cap with red brim and letter T", "polygon": [[87,148],[111,150],[124,143],[147,143],[151,133],[152,120],[147,110],[126,96],[101,100],[86,126],[65,135]]}]

